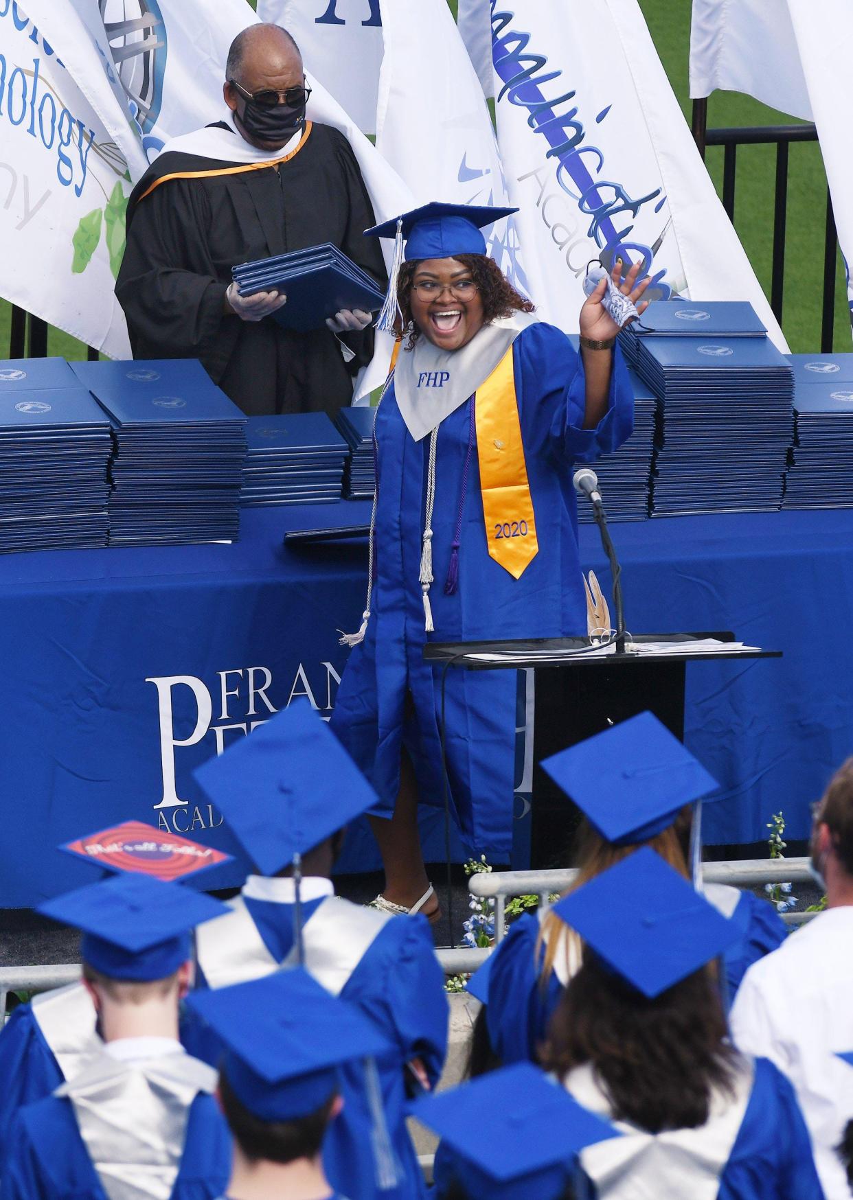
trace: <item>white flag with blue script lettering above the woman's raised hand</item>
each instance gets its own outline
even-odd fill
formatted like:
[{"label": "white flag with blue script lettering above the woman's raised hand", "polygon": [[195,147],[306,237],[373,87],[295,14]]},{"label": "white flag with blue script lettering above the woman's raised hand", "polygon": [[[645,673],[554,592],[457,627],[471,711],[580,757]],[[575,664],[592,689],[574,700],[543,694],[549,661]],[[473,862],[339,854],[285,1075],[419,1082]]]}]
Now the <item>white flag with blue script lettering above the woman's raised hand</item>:
[{"label": "white flag with blue script lettering above the woman's raised hand", "polygon": [[576,331],[588,263],[642,258],[650,296],[749,300],[787,349],[636,0],[481,2],[498,144],[540,314]]}]

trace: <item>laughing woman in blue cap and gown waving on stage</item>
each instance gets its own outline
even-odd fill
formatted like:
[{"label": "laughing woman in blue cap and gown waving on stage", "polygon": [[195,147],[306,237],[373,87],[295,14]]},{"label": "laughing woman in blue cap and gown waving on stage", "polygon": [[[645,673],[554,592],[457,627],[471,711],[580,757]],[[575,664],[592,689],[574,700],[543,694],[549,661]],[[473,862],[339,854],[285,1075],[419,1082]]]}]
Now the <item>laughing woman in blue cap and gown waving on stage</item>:
[{"label": "laughing woman in blue cap and gown waving on stage", "polygon": [[[428,916],[416,812],[444,803],[443,680],[425,643],[585,635],[572,463],[615,450],[633,421],[606,281],[581,310],[578,355],[485,256],[479,227],[507,211],[432,204],[372,230],[407,238],[401,341],[374,422],[371,593],[332,728],[392,817],[373,821],[380,905]],[[638,271],[613,271],[633,301]],[[515,672],[445,684],[452,806],[473,852],[506,859]]]}]

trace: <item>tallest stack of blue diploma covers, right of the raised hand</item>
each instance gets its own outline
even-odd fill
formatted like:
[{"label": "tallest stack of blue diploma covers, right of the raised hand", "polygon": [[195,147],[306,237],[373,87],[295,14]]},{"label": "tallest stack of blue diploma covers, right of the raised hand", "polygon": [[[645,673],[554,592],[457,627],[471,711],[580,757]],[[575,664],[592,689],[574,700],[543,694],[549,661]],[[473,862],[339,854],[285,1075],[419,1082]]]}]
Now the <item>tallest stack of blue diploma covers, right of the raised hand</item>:
[{"label": "tallest stack of blue diploma covers, right of the raised hand", "polygon": [[641,319],[654,332],[623,342],[659,400],[653,515],[777,509],[793,373],[751,305],[656,301]]}]

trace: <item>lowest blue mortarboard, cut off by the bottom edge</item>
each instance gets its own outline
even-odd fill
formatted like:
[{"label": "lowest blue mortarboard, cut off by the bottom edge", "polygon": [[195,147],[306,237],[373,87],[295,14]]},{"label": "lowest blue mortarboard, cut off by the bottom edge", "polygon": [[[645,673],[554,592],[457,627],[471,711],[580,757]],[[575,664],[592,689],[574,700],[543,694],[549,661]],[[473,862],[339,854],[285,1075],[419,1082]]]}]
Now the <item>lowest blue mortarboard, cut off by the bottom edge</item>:
[{"label": "lowest blue mortarboard, cut off by the bottom edge", "polygon": [[[480,1075],[409,1109],[453,1151],[457,1182],[470,1200],[555,1200],[576,1156],[619,1133],[531,1063]],[[482,1126],[488,1136],[471,1135]]]}]

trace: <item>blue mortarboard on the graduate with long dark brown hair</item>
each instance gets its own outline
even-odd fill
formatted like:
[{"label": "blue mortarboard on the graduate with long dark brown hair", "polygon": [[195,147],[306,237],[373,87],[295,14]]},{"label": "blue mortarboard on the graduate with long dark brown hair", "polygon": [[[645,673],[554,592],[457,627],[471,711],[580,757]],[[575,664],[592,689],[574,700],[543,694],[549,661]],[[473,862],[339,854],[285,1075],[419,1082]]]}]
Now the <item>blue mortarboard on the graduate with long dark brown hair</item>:
[{"label": "blue mortarboard on the graduate with long dark brown hair", "polygon": [[564,896],[552,911],[650,1000],[740,936],[734,922],[649,846]]}]

